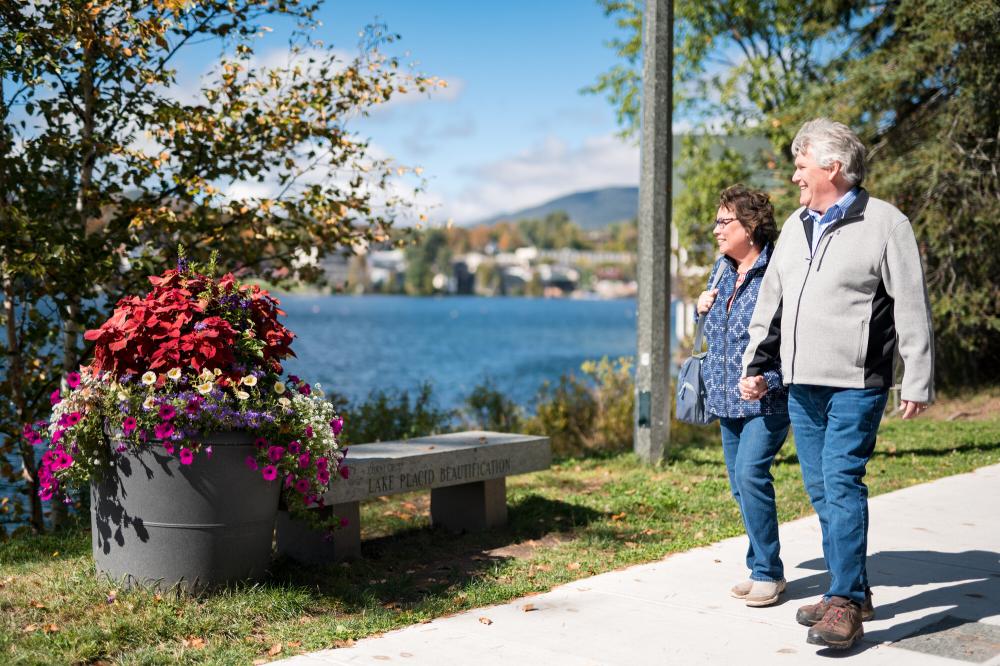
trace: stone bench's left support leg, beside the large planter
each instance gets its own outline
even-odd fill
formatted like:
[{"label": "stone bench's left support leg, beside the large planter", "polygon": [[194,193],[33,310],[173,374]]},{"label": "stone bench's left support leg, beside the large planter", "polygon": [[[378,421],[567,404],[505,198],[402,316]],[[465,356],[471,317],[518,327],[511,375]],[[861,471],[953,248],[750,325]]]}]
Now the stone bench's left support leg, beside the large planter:
[{"label": "stone bench's left support leg, beside the large planter", "polygon": [[346,518],[348,523],[334,530],[333,538],[325,539],[322,532],[311,529],[301,521],[292,520],[287,511],[279,511],[278,555],[287,555],[307,564],[341,562],[361,557],[361,512],[357,502],[334,504],[311,511],[319,511],[323,517],[333,514]]}]

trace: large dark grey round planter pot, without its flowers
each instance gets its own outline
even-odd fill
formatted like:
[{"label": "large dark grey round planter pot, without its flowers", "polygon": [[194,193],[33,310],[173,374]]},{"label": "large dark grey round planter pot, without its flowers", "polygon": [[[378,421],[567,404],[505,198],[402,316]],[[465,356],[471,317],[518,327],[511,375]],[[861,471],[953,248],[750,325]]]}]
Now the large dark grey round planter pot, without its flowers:
[{"label": "large dark grey round planter pot, without its flowers", "polygon": [[192,465],[160,442],[113,454],[113,469],[90,486],[98,574],[127,586],[197,592],[266,571],[281,484],[246,467],[255,453],[249,433],[201,441],[212,456],[199,453]]}]

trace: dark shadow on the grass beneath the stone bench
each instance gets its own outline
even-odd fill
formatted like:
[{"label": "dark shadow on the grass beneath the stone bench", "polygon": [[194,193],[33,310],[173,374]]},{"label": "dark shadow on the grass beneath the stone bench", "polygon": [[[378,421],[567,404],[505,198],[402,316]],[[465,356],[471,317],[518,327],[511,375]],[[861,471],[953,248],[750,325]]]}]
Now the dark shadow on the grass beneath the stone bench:
[{"label": "dark shadow on the grass beneath the stone bench", "polygon": [[307,567],[279,560],[270,584],[314,589],[347,612],[373,604],[397,610],[418,603],[445,604],[453,602],[457,589],[512,559],[492,551],[524,542],[568,540],[576,529],[602,516],[587,507],[531,495],[509,506],[505,527],[464,534],[442,528],[404,529],[362,541],[362,558],[350,563]]}]

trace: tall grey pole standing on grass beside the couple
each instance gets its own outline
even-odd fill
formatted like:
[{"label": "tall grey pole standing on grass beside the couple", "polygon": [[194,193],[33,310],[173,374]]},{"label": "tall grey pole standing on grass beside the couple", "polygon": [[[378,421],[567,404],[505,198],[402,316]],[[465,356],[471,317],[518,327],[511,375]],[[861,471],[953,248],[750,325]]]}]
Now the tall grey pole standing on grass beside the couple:
[{"label": "tall grey pole standing on grass beside the couple", "polygon": [[633,447],[663,460],[670,439],[670,206],[673,195],[672,0],[646,0],[642,25],[638,363]]}]

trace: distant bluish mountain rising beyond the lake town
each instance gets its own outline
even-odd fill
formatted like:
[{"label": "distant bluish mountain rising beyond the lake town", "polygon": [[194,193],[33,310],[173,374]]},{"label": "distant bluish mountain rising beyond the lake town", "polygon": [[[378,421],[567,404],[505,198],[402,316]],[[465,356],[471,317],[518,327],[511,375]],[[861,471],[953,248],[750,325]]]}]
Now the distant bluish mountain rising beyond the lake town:
[{"label": "distant bluish mountain rising beyond the lake town", "polygon": [[524,208],[480,220],[476,224],[496,224],[501,220],[516,222],[542,218],[549,213],[564,211],[581,229],[603,229],[612,222],[631,220],[638,211],[639,188],[605,187],[588,192],[574,192],[546,201],[539,206]]}]

